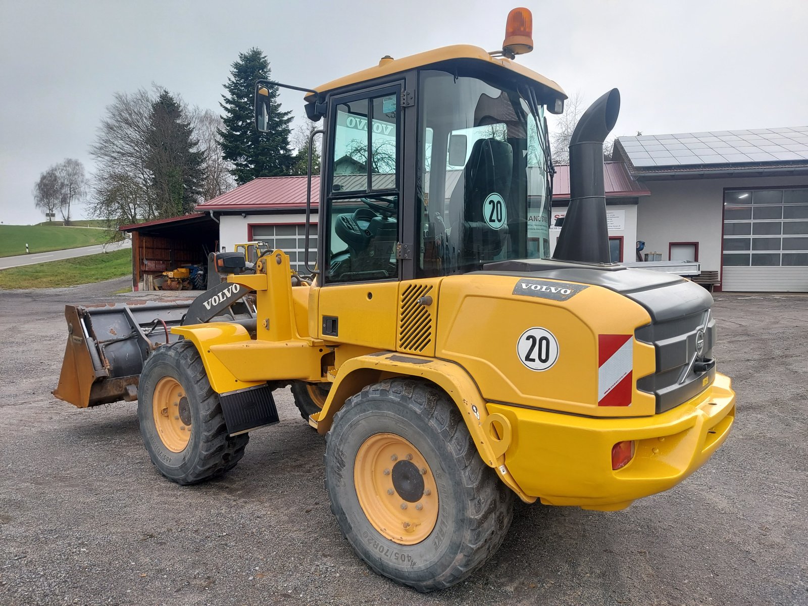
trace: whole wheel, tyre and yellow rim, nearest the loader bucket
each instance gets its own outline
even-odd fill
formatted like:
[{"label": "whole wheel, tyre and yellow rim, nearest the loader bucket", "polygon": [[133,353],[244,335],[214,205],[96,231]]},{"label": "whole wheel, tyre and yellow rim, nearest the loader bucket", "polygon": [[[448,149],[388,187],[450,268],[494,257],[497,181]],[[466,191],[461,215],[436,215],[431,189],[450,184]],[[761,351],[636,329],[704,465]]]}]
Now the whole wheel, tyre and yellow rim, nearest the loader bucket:
[{"label": "whole wheel, tyre and yellow rim, nearest the loader bucket", "polygon": [[152,463],[178,484],[204,482],[233,469],[250,441],[247,434],[227,435],[219,396],[190,341],[162,345],[146,360],[137,417]]}]

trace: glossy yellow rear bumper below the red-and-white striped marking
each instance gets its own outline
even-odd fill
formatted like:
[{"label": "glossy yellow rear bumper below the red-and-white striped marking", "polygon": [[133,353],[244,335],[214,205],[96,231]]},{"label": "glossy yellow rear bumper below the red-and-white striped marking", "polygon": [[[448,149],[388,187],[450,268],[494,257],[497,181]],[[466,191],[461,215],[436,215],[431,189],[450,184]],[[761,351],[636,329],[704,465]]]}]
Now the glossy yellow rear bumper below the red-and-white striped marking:
[{"label": "glossy yellow rear bumper below the red-and-white striped marking", "polygon": [[[550,505],[627,507],[675,486],[726,440],[735,416],[729,377],[672,410],[636,419],[593,419],[488,404],[511,423],[505,465],[530,496]],[[612,446],[636,440],[633,459],[612,469]]]}]

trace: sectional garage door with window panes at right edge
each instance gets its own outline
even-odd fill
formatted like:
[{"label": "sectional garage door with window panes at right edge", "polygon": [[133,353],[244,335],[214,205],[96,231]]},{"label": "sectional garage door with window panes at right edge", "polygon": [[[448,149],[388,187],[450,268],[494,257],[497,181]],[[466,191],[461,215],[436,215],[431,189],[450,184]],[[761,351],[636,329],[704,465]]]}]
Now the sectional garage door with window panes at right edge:
[{"label": "sectional garage door with window panes at right edge", "polygon": [[808,292],[808,188],[724,192],[726,291]]}]

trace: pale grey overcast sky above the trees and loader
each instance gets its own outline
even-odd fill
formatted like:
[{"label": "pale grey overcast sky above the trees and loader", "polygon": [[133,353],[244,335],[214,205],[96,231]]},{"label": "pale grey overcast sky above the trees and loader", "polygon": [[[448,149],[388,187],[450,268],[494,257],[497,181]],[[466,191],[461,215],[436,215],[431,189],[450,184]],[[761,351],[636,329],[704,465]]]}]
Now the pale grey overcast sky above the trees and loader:
[{"label": "pale grey overcast sky above the trees and loader", "polygon": [[[499,0],[0,0],[0,221],[42,221],[32,187],[88,147],[116,91],[152,82],[219,112],[238,53],[316,86],[447,44],[494,50]],[[587,103],[621,90],[614,134],[808,124],[808,0],[543,0],[524,65]],[[301,95],[281,103],[298,120]]]}]

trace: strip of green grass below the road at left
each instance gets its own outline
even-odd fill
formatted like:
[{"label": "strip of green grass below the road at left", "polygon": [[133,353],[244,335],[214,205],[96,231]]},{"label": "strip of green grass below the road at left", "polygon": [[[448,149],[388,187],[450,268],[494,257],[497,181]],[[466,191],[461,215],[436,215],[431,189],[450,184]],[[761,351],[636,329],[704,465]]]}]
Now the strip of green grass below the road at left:
[{"label": "strip of green grass below the road at left", "polygon": [[132,250],[87,255],[0,271],[0,288],[61,288],[112,280],[132,273]]}]

